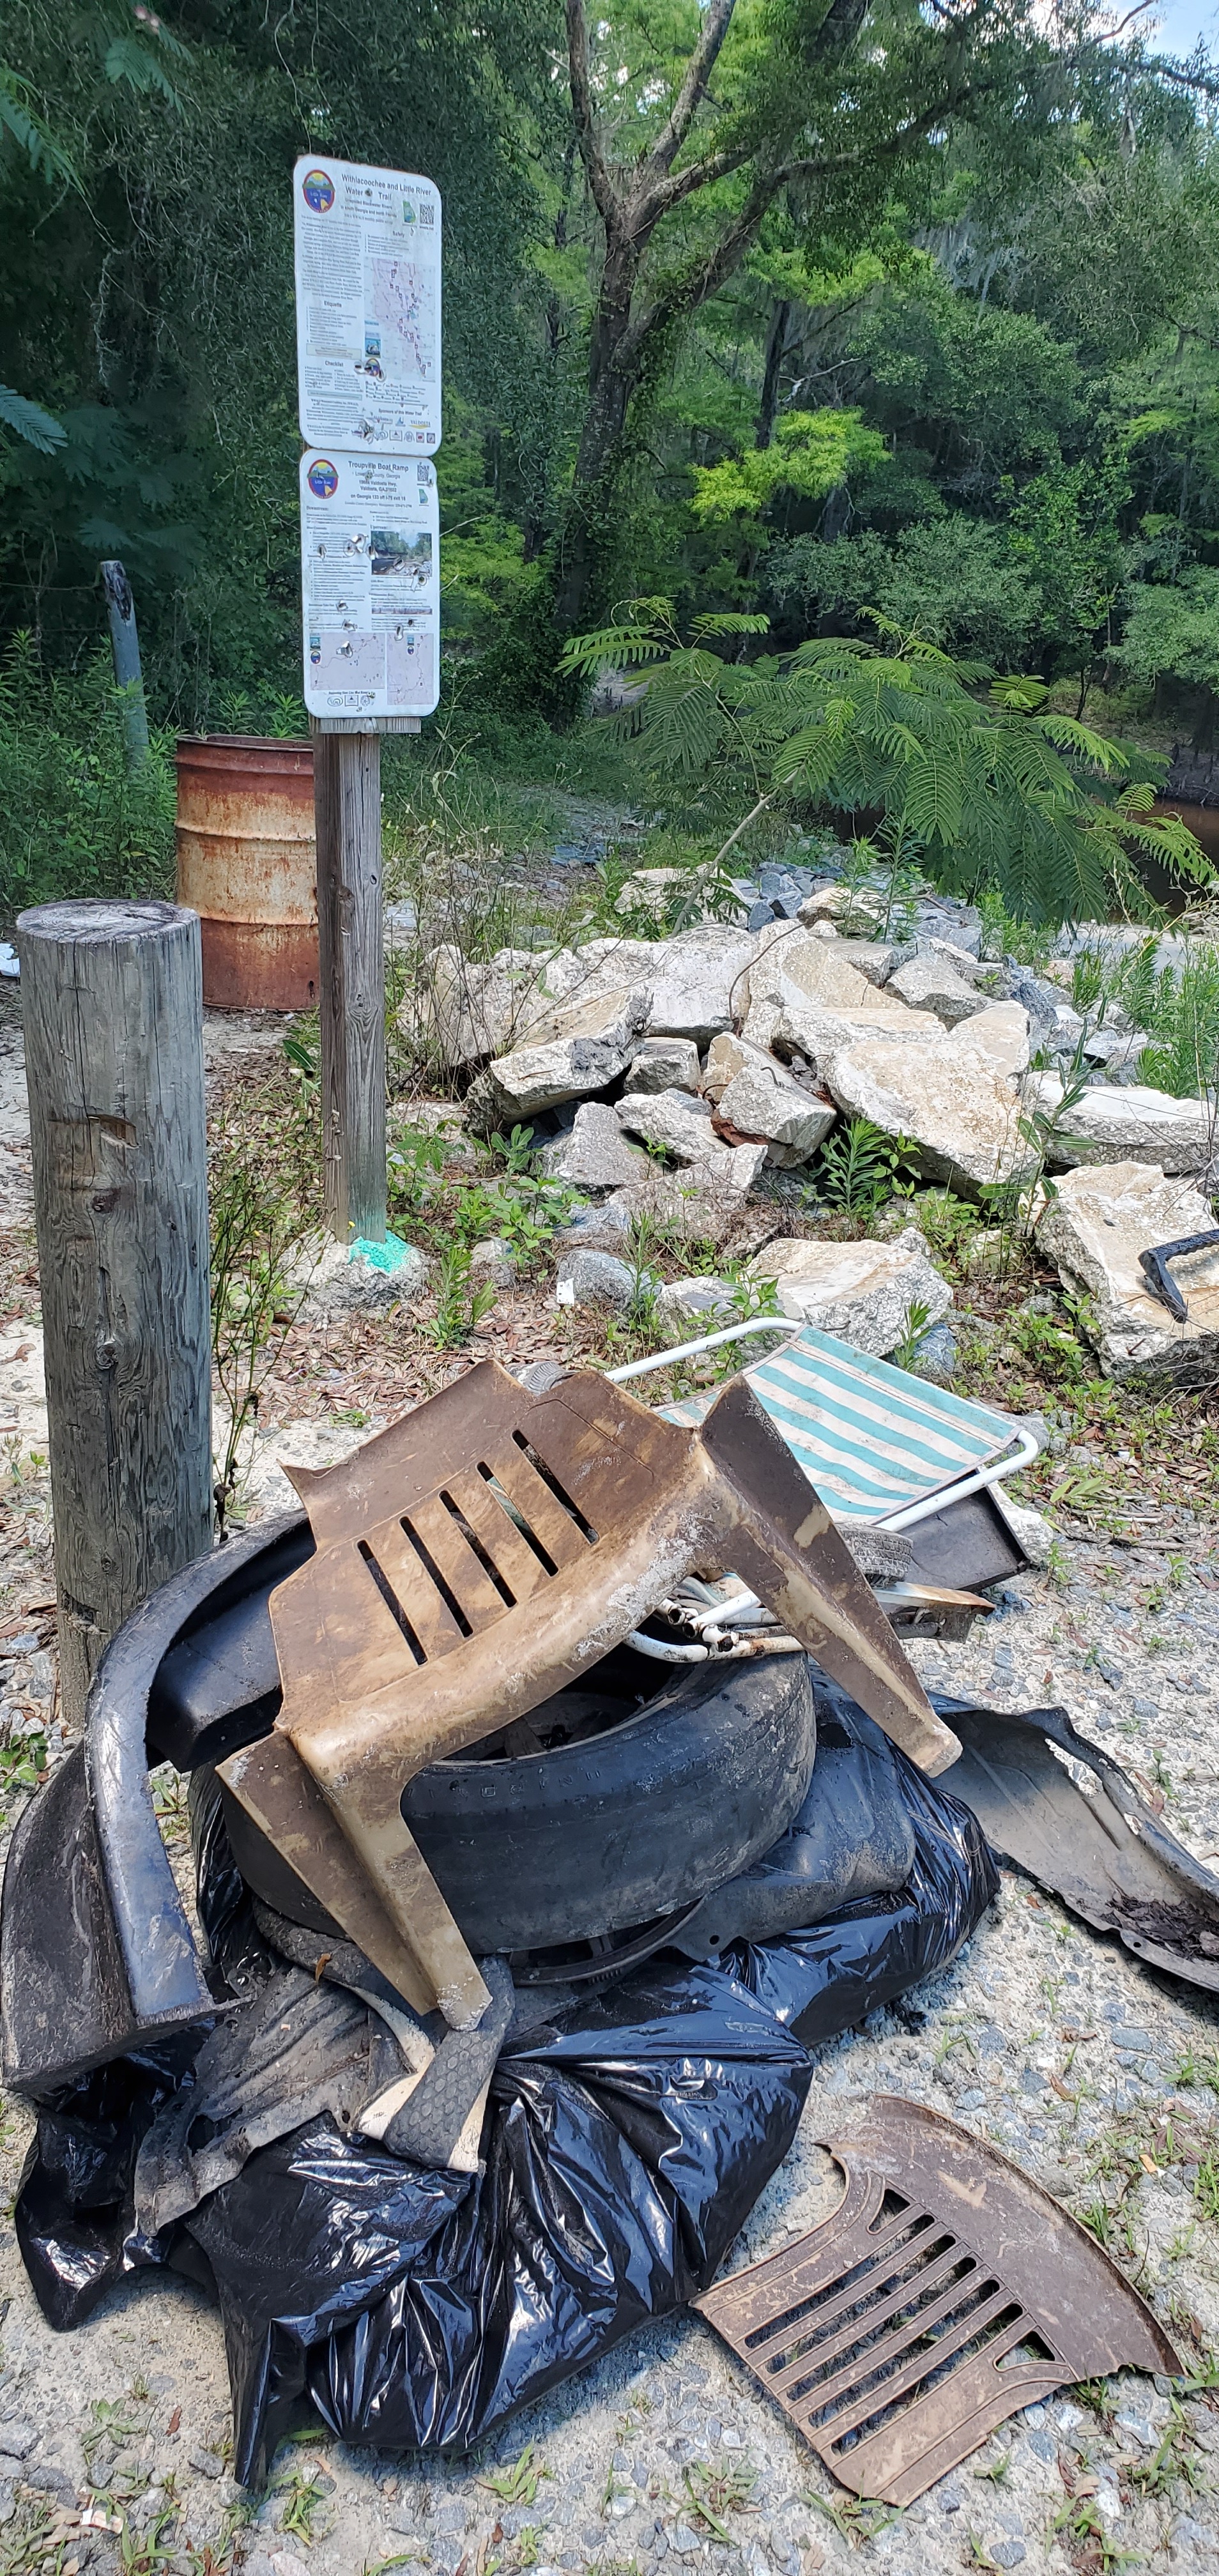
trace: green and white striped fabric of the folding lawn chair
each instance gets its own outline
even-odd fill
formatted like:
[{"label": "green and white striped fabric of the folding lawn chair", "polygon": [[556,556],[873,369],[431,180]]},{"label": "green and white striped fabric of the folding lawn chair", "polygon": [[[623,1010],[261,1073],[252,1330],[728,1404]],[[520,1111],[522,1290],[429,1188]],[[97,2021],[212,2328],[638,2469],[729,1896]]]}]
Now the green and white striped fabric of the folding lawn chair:
[{"label": "green and white striped fabric of the folding lawn chair", "polygon": [[[832,1332],[804,1332],[745,1370],[835,1520],[884,1520],[1010,1450],[1015,1425],[984,1404],[871,1360]],[[719,1388],[662,1404],[665,1422],[704,1422]]]}]

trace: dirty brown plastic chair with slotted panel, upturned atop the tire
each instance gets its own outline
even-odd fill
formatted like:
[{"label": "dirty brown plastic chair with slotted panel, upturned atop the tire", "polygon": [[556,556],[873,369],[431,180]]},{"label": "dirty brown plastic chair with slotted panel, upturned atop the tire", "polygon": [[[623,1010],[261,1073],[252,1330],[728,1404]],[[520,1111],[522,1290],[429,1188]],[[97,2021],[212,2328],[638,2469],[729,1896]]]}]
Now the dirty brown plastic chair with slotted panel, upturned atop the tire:
[{"label": "dirty brown plastic chair with slotted panel, upturned atop the tire", "polygon": [[219,1775],[407,2004],[454,2027],[487,1989],[402,1790],[575,1682],[693,1569],[750,1584],[923,1770],[956,1759],[745,1381],[688,1430],[598,1370],[528,1396],[487,1360],[294,1484],[317,1553],[271,1595],[283,1705]]}]

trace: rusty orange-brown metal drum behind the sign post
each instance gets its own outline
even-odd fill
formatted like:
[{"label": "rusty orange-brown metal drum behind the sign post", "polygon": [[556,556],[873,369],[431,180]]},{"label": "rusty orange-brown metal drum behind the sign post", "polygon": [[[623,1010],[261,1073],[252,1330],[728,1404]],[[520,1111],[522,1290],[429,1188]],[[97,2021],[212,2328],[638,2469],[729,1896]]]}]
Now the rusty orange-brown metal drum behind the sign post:
[{"label": "rusty orange-brown metal drum behind the sign post", "polygon": [[198,912],[204,1002],[317,1002],[312,742],[178,737],[178,902]]}]

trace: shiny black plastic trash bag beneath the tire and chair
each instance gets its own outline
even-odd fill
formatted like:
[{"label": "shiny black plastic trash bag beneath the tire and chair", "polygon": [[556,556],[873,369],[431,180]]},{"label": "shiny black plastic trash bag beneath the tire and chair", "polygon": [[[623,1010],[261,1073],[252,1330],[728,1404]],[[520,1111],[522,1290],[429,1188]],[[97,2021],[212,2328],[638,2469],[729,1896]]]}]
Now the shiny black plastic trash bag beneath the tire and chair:
[{"label": "shiny black plastic trash bag beneath the tire and chair", "polygon": [[[817,1677],[817,1716],[879,1734]],[[39,2117],[15,2226],[54,2326],[170,2264],[224,2318],[235,2473],[260,2481],[309,2403],[345,2442],[469,2450],[634,2326],[704,2290],[783,2161],[817,2043],[943,1968],[995,1896],[974,1816],[892,1752],[915,1868],[809,1932],[716,1965],[673,1953],[510,2040],[479,2174],[428,2172],[309,2120],[157,2239],[131,2172],[186,2048],[121,2058]],[[258,1940],[224,1832],[198,1855],[219,1963]],[[196,2043],[198,2045],[198,2043]]]}]

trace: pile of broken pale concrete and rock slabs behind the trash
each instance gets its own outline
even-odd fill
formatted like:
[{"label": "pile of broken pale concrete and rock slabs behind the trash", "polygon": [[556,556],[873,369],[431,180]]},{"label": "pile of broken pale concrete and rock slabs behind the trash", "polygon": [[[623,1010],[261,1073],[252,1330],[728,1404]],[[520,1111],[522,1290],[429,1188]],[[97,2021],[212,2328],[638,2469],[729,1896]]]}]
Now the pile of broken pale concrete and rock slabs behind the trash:
[{"label": "pile of broken pale concrete and rock slabs behind the trash", "polygon": [[[680,894],[670,876],[639,871],[619,896],[624,922],[660,922]],[[585,1195],[559,1301],[631,1303],[639,1278],[621,1255],[637,1216],[722,1242],[763,1167],[799,1172],[840,1121],[866,1118],[902,1144],[907,1172],[972,1200],[1036,1180],[1044,1159],[1054,1195],[1039,1244],[1085,1288],[1100,1365],[1198,1383],[1211,1321],[1204,1306],[1175,1321],[1139,1252],[1204,1229],[1211,1105],[1137,1079],[1144,1033],[1118,1010],[1088,1033],[1051,981],[1064,966],[982,961],[979,914],[948,896],[923,899],[897,938],[881,896],[809,868],[763,868],[737,894],[737,922],[670,938],[477,963],[438,948],[425,997],[405,1005],[410,1033],[469,1077],[477,1128],[546,1121],[541,1167]],[[1064,1108],[1080,1038],[1088,1084]],[[910,1311],[936,1329],[951,1306],[917,1229],[861,1247],[778,1236],[763,1275],[783,1314],[876,1355],[899,1347]],[[732,1291],[678,1280],[665,1303],[711,1329]]]}]

